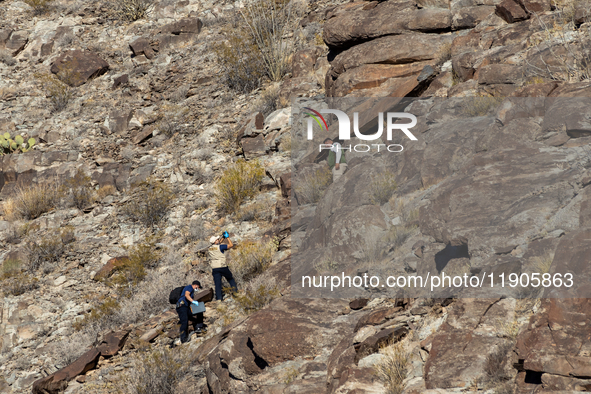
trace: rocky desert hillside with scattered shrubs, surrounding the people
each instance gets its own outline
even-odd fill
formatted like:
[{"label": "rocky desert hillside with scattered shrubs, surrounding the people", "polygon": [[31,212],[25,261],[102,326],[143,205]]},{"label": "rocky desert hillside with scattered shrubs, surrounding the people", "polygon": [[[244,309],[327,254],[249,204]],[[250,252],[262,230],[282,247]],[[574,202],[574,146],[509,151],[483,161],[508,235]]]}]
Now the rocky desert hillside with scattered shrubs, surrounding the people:
[{"label": "rocky desert hillside with scattered shrubs, surrounding the people", "polygon": [[[346,245],[315,273],[566,267],[585,288],[591,5],[259,3],[0,1],[0,392],[591,391],[581,292],[291,284],[292,247]],[[325,165],[292,109],[340,97],[398,100],[419,141],[352,154],[308,201],[295,177]],[[396,190],[356,198],[380,171]],[[343,218],[377,233],[336,240]],[[202,251],[223,230],[240,292],[219,302]],[[175,346],[167,296],[194,279],[208,331]]]}]

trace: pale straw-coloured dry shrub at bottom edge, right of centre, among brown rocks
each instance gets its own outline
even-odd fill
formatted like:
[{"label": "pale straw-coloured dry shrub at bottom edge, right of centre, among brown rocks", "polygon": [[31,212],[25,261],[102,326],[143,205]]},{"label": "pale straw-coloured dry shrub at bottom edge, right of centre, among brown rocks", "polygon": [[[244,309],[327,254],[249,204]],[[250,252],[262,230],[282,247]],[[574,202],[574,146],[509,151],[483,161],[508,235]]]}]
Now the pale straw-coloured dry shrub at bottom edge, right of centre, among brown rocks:
[{"label": "pale straw-coloured dry shrub at bottom edge, right of centre, among brown rocks", "polygon": [[384,358],[374,368],[378,378],[386,387],[387,394],[401,394],[402,382],[408,374],[409,357],[401,342],[380,349]]}]

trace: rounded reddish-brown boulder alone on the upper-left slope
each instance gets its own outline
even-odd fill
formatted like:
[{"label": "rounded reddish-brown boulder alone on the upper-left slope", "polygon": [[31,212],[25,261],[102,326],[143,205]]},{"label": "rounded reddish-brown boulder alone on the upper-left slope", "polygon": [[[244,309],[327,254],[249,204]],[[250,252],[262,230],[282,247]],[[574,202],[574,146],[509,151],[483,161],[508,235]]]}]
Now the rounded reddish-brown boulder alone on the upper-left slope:
[{"label": "rounded reddish-brown boulder alone on the upper-left slope", "polygon": [[109,64],[90,51],[70,50],[62,53],[51,66],[51,72],[70,86],[80,86],[107,72]]}]

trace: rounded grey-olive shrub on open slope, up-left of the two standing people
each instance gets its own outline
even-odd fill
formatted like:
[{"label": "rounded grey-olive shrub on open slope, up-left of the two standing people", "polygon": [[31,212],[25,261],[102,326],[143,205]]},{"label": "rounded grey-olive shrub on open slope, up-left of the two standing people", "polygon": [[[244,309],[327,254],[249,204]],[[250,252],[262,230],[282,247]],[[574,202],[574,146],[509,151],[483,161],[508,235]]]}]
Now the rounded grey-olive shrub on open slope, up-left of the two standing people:
[{"label": "rounded grey-olive shrub on open slope, up-left of the two standing people", "polygon": [[123,207],[123,213],[148,228],[158,225],[168,213],[174,193],[168,185],[148,179],[134,188],[134,198]]}]

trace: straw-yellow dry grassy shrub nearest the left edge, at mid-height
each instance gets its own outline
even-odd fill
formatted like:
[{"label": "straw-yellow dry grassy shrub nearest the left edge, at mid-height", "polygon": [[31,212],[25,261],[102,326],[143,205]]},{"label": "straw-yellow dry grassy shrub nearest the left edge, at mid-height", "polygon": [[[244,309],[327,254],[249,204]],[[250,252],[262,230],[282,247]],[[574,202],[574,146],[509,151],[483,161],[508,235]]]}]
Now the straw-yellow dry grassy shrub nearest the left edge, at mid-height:
[{"label": "straw-yellow dry grassy shrub nearest the left edge, at mid-height", "polygon": [[59,186],[40,183],[19,185],[14,195],[4,202],[4,214],[8,220],[33,220],[57,207]]}]

